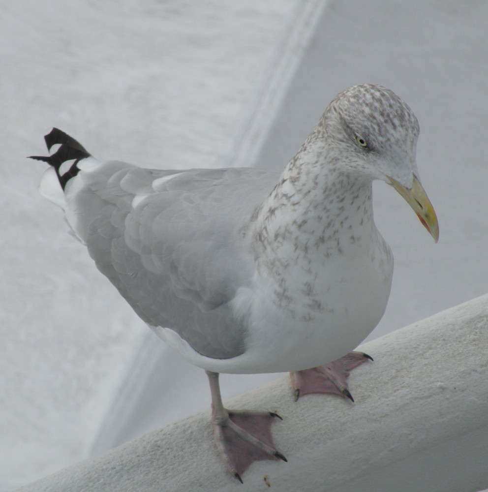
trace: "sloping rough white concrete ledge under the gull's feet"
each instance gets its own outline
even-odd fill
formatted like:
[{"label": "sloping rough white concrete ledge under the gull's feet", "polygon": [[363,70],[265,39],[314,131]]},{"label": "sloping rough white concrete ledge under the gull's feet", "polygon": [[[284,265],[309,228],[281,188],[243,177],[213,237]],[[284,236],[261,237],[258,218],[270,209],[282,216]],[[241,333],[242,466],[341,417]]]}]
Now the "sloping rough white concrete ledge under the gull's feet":
[{"label": "sloping rough white concrete ledge under the gull's feet", "polygon": [[321,395],[295,403],[287,377],[226,402],[284,418],[274,424],[274,440],[288,463],[256,462],[244,485],[217,455],[209,410],[19,491],[488,488],[488,295],[361,348],[375,362],[353,371],[354,404]]}]

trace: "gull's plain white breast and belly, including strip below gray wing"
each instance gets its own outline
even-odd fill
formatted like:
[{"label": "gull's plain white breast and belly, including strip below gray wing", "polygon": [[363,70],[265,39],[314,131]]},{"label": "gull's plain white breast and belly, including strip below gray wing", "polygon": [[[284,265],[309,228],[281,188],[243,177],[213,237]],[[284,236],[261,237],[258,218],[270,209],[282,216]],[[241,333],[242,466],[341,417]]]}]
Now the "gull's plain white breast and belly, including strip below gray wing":
[{"label": "gull's plain white breast and belly, including strip below gray wing", "polygon": [[270,277],[257,275],[252,288],[242,287],[233,304],[238,315],[246,316],[248,333],[246,350],[238,357],[203,357],[174,331],[155,331],[189,362],[215,372],[286,372],[336,360],[372,331],[390,294],[391,251],[379,235],[369,244],[373,247],[365,254],[336,257],[318,275],[290,271],[288,288],[295,293],[290,302],[276,296]]}]

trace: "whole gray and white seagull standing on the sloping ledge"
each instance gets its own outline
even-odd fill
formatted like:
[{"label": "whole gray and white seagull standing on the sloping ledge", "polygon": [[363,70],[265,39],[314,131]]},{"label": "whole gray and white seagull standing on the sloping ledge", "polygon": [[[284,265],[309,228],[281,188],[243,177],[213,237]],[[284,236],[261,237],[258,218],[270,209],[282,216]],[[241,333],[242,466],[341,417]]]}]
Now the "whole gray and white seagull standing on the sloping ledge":
[{"label": "whole gray and white seagull standing on the sloping ledge", "polygon": [[353,351],[382,317],[393,255],[373,221],[373,180],[393,186],[437,242],[420,182],[419,124],[394,92],[351,87],[329,104],[281,173],[161,170],[95,159],[57,128],[43,196],[64,209],[98,270],[149,327],[204,369],[230,473],[284,460],[274,412],[228,410],[218,375],[290,372],[295,399],[354,401]]}]

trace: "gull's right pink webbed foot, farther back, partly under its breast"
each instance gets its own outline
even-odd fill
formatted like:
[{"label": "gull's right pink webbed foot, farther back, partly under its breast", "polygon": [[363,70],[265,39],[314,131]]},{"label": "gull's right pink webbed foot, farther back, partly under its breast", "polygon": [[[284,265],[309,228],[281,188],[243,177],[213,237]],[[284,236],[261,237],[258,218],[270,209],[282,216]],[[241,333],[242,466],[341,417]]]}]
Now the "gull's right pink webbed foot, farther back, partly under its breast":
[{"label": "gull's right pink webbed foot, farther back, partly under its breast", "polygon": [[334,362],[312,369],[290,372],[295,400],[311,393],[332,393],[354,401],[347,384],[352,369],[372,357],[363,352],[351,352]]}]

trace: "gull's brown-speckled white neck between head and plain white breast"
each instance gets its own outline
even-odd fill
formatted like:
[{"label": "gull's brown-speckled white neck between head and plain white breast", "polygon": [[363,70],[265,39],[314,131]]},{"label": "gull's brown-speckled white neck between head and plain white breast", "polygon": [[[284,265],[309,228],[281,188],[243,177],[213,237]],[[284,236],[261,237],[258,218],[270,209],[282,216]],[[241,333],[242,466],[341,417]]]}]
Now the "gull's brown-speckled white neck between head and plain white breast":
[{"label": "gull's brown-speckled white neck between head and plain white breast", "polygon": [[259,265],[306,268],[311,258],[347,254],[376,233],[371,179],[346,171],[326,141],[317,126],[257,212]]}]

